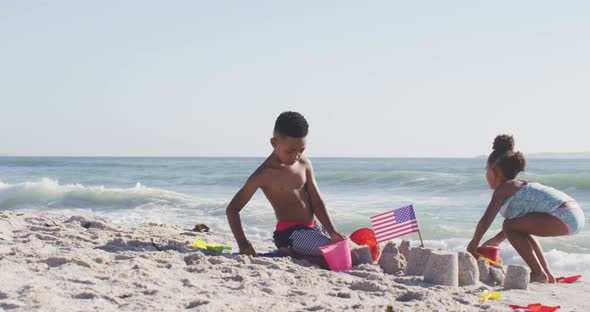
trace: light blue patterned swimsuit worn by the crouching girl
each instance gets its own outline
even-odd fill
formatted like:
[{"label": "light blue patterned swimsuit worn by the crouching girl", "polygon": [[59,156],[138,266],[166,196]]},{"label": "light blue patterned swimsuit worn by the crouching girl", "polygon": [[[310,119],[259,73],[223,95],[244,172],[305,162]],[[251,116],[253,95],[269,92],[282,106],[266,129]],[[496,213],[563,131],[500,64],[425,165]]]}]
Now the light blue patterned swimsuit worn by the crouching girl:
[{"label": "light blue patterned swimsuit worn by the crouching girl", "polygon": [[540,183],[527,183],[504,202],[500,213],[506,219],[520,218],[532,212],[548,213],[568,228],[569,234],[580,232],[584,227],[584,212],[578,205],[564,205],[575,202],[564,192]]}]

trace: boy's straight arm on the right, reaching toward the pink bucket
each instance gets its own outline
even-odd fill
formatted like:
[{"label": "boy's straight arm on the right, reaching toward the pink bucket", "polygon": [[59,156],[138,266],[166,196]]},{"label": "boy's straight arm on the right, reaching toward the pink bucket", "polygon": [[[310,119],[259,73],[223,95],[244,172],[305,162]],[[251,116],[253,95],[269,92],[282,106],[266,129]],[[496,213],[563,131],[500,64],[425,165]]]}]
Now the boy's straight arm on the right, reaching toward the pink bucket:
[{"label": "boy's straight arm on the right, reaching toward the pink bucket", "polygon": [[334,223],[332,223],[332,218],[328,214],[328,210],[326,209],[326,205],[324,204],[324,200],[320,195],[320,189],[315,181],[315,175],[313,173],[313,167],[311,166],[311,161],[309,159],[305,159],[306,163],[306,183],[305,188],[307,191],[307,195],[309,196],[309,201],[311,204],[311,209],[313,210],[314,214],[320,221],[320,223],[324,226],[328,234],[333,241],[339,241],[346,239],[346,236],[336,230]]}]

